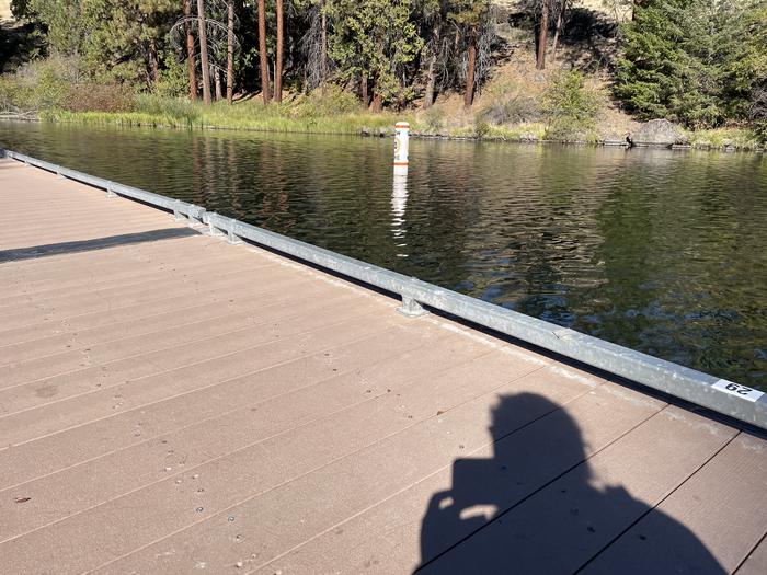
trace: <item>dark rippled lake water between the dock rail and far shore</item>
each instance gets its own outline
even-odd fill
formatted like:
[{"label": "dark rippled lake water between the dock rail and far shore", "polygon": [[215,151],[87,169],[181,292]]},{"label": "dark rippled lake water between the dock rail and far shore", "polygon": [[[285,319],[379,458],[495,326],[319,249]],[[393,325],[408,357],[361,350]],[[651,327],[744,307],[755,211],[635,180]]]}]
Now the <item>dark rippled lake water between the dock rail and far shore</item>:
[{"label": "dark rippled lake water between the dock rail and far shore", "polygon": [[767,390],[767,158],[0,123],[0,146]]}]

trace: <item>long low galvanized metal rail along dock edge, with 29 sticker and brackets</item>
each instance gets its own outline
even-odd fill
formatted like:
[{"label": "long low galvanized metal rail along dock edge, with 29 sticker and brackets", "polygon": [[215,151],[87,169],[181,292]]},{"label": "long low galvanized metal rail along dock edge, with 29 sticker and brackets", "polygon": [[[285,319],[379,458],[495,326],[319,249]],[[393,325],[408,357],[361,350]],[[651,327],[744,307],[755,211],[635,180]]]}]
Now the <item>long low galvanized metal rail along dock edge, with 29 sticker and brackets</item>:
[{"label": "long low galvanized metal rail along dock edge, with 29 sticker and brackets", "polygon": [[10,150],[4,154],[28,165],[54,172],[61,177],[102,188],[110,196],[124,196],[172,211],[176,220],[186,218],[192,226],[205,225],[211,234],[226,234],[231,243],[239,243],[245,239],[396,294],[402,298],[402,307],[399,311],[407,315],[425,313],[423,306],[440,310],[767,429],[767,394],[746,386],[561,327],[233,218],[209,212],[194,204],[110,182]]}]

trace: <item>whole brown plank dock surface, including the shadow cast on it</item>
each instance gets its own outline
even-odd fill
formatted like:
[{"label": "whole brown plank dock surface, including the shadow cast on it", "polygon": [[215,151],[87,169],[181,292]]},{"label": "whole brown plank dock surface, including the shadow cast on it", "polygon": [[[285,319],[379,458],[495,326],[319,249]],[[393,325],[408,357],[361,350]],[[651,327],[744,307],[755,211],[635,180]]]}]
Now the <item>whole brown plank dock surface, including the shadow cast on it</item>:
[{"label": "whole brown plank dock surface, including the shadow cast on it", "polygon": [[0,573],[767,573],[767,442],[0,160]]}]

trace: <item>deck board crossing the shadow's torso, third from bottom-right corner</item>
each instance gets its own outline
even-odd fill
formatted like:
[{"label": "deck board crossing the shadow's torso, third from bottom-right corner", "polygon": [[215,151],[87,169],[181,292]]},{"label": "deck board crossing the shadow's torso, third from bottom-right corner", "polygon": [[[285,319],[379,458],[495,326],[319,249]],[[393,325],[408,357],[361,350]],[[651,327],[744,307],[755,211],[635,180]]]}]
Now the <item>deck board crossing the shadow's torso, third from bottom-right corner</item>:
[{"label": "deck board crossing the shadow's torso, third from bottom-right corner", "polygon": [[[473,565],[483,573],[503,566],[520,573],[574,573],[735,434],[668,407],[495,519],[425,572],[466,573]],[[672,437],[673,441],[667,439]],[[666,516],[663,521],[673,525]],[[668,531],[679,542],[687,540],[673,527]],[[560,542],[556,549],[551,540]],[[669,572],[636,565],[620,556],[619,564],[604,573]]]}]

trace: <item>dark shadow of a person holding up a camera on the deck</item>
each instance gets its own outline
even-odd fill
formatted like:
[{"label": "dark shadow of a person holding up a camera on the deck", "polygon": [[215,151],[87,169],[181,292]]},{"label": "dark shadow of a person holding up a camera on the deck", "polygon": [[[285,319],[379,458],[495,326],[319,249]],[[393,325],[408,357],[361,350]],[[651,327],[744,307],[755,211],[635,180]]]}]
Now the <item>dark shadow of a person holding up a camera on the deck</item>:
[{"label": "dark shadow of a person holding up a camera on the deck", "polygon": [[564,409],[533,393],[500,396],[490,434],[492,457],[457,459],[451,487],[432,496],[419,574],[724,573],[657,509],[633,525],[650,507],[620,485],[595,485]]}]

